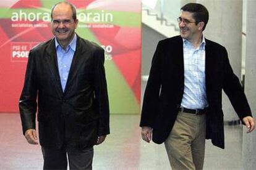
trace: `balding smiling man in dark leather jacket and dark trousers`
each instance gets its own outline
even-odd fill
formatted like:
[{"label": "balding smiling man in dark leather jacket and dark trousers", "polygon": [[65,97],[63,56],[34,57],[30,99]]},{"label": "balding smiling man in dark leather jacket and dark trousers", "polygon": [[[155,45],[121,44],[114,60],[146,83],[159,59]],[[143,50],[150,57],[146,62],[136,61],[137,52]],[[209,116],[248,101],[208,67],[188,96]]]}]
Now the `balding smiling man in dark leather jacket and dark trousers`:
[{"label": "balding smiling man in dark leather jacket and dark trousers", "polygon": [[38,144],[44,169],[92,169],[93,145],[109,134],[104,50],[75,34],[75,7],[59,2],[51,12],[54,38],[29,54],[19,108],[23,134]]}]

